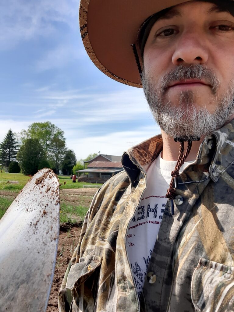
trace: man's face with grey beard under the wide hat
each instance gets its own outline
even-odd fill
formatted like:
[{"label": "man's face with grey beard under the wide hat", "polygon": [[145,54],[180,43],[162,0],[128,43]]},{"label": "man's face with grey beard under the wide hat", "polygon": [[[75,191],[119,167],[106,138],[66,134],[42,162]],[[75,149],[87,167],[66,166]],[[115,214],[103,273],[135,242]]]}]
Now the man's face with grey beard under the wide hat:
[{"label": "man's face with grey beard under the wide hat", "polygon": [[155,22],[144,48],[143,88],[168,135],[205,135],[231,119],[233,82],[230,13],[191,1]]}]

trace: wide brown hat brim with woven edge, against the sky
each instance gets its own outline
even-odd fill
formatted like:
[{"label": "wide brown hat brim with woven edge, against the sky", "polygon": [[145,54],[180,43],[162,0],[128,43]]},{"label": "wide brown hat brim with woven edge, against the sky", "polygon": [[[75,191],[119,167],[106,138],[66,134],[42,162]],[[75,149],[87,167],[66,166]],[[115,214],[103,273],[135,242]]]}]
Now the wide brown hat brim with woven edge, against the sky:
[{"label": "wide brown hat brim with woven edge, against the sky", "polygon": [[131,46],[141,24],[156,12],[188,1],[80,0],[80,32],[90,59],[114,80],[141,88]]}]

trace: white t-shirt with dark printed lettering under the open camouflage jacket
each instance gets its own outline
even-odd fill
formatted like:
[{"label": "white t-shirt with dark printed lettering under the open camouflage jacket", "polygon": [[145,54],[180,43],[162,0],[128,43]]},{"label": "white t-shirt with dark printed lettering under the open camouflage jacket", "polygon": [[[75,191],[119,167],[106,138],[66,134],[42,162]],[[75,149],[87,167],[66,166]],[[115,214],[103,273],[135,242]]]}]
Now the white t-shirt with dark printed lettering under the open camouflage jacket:
[{"label": "white t-shirt with dark printed lettering under the open camouflage jacket", "polygon": [[[182,172],[191,162],[185,162],[180,169]],[[166,206],[168,186],[171,182],[171,172],[176,161],[166,161],[161,154],[148,168],[147,187],[129,223],[126,237],[127,253],[132,268],[138,295],[141,294],[150,257],[158,236],[161,219]]]}]

